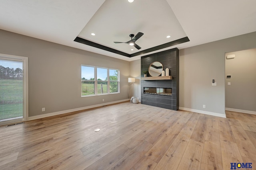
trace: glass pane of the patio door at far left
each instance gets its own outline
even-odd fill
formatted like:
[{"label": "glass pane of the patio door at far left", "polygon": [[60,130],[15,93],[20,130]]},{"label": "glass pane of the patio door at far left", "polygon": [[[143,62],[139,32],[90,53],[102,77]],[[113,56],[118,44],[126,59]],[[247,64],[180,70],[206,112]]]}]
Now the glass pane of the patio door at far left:
[{"label": "glass pane of the patio door at far left", "polygon": [[24,61],[0,56],[0,124],[24,118]]}]

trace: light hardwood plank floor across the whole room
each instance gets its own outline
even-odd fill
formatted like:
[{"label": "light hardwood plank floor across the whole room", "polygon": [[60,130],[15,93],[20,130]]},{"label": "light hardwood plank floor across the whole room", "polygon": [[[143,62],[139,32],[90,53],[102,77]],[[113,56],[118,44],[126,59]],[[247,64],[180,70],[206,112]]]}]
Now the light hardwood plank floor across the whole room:
[{"label": "light hardwood plank floor across the whole room", "polygon": [[2,126],[0,170],[256,169],[256,115],[226,116],[124,102]]}]

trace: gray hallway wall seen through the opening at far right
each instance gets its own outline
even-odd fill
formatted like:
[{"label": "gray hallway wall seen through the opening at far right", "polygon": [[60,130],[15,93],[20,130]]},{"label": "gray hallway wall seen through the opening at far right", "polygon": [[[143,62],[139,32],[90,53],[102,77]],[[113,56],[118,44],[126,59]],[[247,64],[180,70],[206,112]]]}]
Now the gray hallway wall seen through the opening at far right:
[{"label": "gray hallway wall seen through the opening at far right", "polygon": [[256,111],[256,49],[226,53],[226,56],[233,54],[234,59],[226,59],[225,77],[231,75],[225,78],[226,107]]}]

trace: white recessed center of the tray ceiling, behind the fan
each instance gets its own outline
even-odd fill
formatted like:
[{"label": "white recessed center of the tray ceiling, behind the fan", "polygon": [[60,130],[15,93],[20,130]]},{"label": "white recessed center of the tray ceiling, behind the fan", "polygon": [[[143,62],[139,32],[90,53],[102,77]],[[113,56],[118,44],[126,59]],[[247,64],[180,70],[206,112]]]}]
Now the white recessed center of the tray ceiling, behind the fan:
[{"label": "white recessed center of the tray ceiling, behind the fan", "polygon": [[[92,32],[96,35],[92,36]],[[144,33],[136,41],[142,47],[140,50],[114,43],[130,41],[129,35],[138,32]],[[166,38],[167,35],[171,37]],[[106,0],[78,37],[132,54],[184,38],[186,33],[166,0]]]}]

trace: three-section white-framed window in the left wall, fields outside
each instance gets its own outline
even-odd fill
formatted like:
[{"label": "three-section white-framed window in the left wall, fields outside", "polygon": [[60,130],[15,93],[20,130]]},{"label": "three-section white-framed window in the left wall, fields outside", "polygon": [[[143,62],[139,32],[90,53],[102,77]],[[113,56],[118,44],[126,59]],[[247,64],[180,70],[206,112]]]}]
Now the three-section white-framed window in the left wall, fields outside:
[{"label": "three-section white-framed window in the left wall, fields outside", "polygon": [[119,70],[81,66],[81,96],[119,93]]}]

